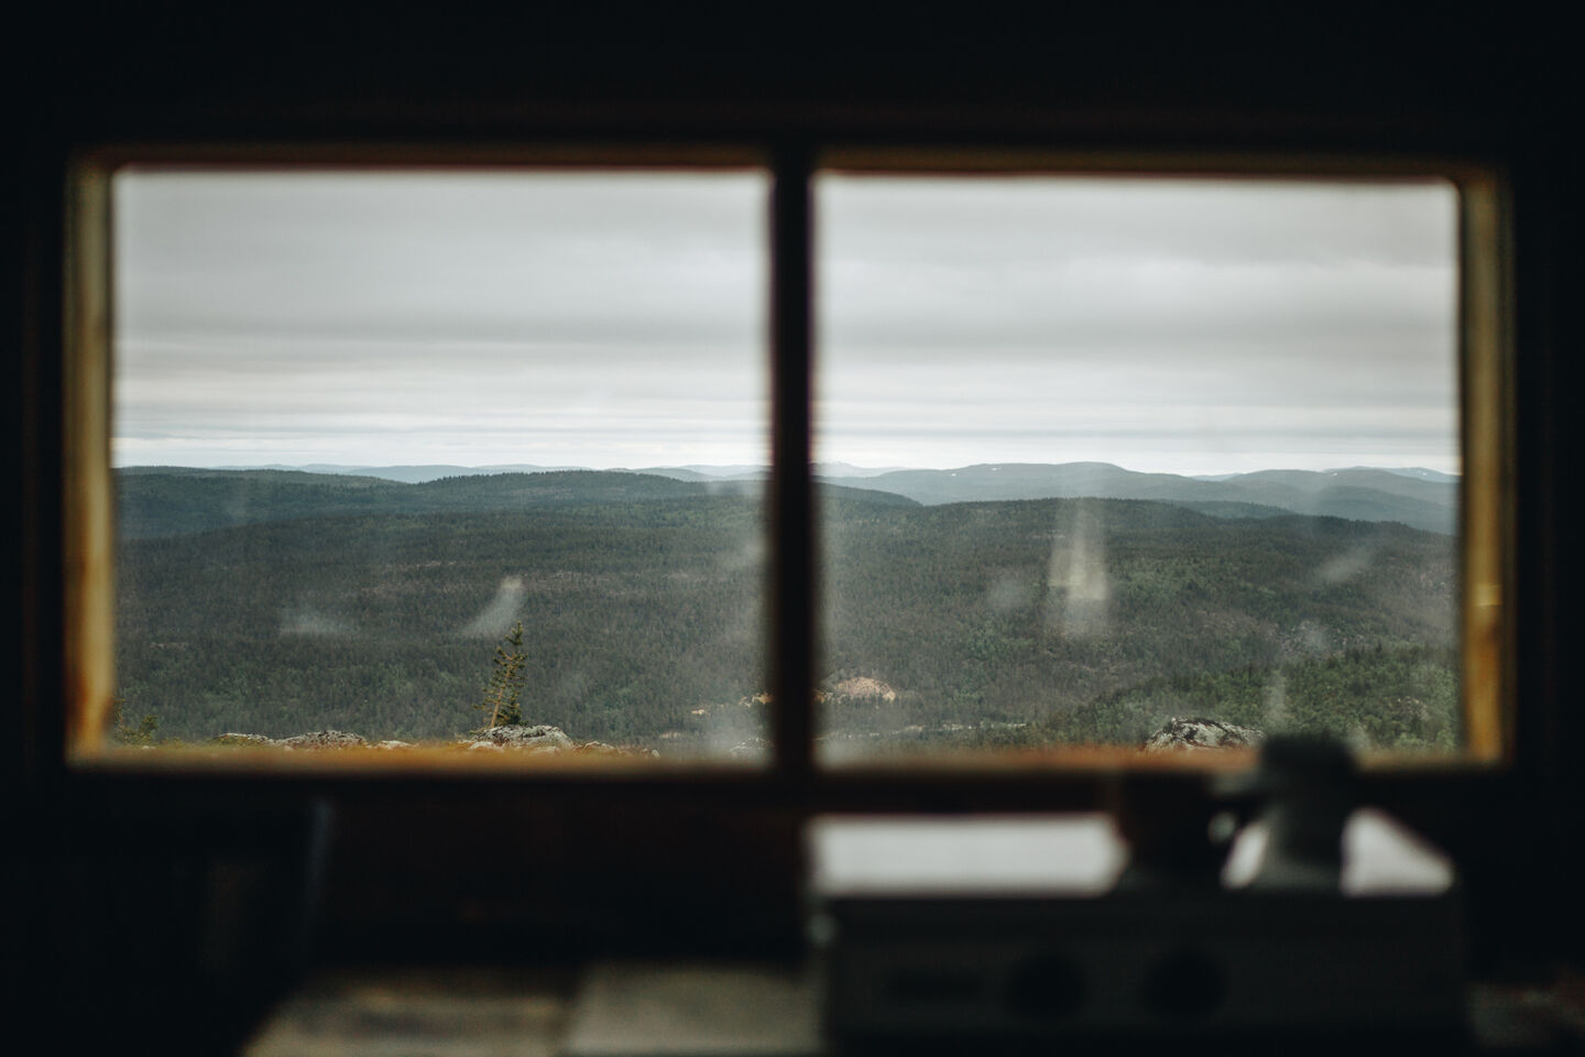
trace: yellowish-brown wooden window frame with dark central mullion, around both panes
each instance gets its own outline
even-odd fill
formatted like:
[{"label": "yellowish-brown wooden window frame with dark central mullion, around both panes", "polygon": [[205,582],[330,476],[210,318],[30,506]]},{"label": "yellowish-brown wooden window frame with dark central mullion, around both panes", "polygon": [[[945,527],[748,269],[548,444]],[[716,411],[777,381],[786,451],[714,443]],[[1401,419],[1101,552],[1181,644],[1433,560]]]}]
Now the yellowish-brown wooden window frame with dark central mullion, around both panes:
[{"label": "yellowish-brown wooden window frame with dark central mullion, around both panes", "polygon": [[[769,488],[770,621],[767,640],[772,689],[772,764],[769,780],[800,786],[821,781],[815,761],[816,708],[813,707],[816,629],[815,550],[818,542],[813,466],[813,372],[815,372],[815,242],[813,181],[819,171],[886,174],[1097,174],[1121,177],[1222,177],[1222,179],[1335,179],[1393,181],[1449,179],[1458,192],[1458,374],[1460,445],[1463,490],[1460,502],[1460,640],[1463,751],[1420,765],[1490,767],[1511,759],[1514,712],[1512,620],[1503,599],[1514,594],[1512,479],[1503,453],[1511,444],[1504,429],[1512,422],[1507,379],[1511,349],[1503,333],[1499,246],[1504,214],[1501,181],[1488,168],[1449,158],[1308,157],[1266,155],[1224,158],[1214,154],[1162,155],[1125,152],[1054,154],[1037,151],[875,149],[853,146],[772,144],[769,147],[658,147],[623,144],[599,147],[533,147],[515,151],[458,151],[433,146],[307,147],[284,146],[111,146],[79,157],[68,177],[68,247],[65,276],[65,672],[67,746],[78,765],[109,767],[133,761],[109,761],[100,754],[101,731],[114,696],[114,525],[109,471],[111,418],[111,247],[109,185],[114,170],[127,163],[170,166],[220,166],[236,171],[358,168],[483,168],[523,170],[620,166],[696,168],[756,166],[769,171],[769,355],[770,447]],[[1388,757],[1388,765],[1395,761]],[[160,761],[149,761],[160,762]],[[323,767],[346,761],[320,757]],[[363,761],[369,762],[369,761]],[[399,769],[390,761],[379,770]],[[428,761],[431,765],[434,761]],[[932,765],[935,764],[935,765]],[[250,765],[268,765],[250,761]],[[293,770],[301,769],[293,761]],[[476,761],[469,761],[469,767]],[[932,770],[983,770],[987,777],[1014,772],[1018,781],[1037,778],[1052,767],[1122,769],[1140,761],[1124,748],[1057,751],[1049,761],[1030,759],[1008,765],[994,756],[964,759],[872,764],[899,783],[930,781]],[[1165,761],[1165,765],[1205,769],[1203,757]],[[691,765],[708,770],[708,765]],[[534,769],[502,773],[533,781]],[[569,777],[577,780],[577,777]],[[764,780],[745,775],[745,781]]]}]

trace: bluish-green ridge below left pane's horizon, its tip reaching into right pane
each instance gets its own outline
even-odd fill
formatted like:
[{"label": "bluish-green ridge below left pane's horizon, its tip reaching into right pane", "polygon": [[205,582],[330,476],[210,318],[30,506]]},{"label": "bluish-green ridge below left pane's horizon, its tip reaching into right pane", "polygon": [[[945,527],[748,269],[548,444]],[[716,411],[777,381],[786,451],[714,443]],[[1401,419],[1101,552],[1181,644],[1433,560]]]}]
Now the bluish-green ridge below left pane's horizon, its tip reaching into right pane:
[{"label": "bluish-green ridge below left pane's horizon, its tip reaching into right pane", "polygon": [[[120,539],[208,532],[262,521],[371,513],[526,510],[545,506],[628,504],[708,494],[758,494],[754,482],[691,483],[621,471],[548,471],[442,477],[401,483],[349,474],[133,466],[116,472]],[[831,494],[864,490],[827,487]],[[870,491],[870,502],[915,506]]]}]

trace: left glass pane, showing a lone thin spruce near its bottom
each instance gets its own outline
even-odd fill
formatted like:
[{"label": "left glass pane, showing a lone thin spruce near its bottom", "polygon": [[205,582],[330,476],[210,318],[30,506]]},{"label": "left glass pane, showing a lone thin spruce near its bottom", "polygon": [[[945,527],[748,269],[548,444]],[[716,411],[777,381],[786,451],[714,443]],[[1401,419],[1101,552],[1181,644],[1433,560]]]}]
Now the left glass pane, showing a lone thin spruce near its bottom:
[{"label": "left glass pane, showing a lone thin spruce near its bottom", "polygon": [[766,193],[119,173],[113,742],[762,757]]}]

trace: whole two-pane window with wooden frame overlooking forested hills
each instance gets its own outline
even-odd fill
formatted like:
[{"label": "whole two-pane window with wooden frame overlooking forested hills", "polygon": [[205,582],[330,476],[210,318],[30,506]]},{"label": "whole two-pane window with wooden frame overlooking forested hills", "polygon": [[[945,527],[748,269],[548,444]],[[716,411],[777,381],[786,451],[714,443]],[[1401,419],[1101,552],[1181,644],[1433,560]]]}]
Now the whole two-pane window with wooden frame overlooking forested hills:
[{"label": "whole two-pane window with wooden frame overlooking forested hills", "polygon": [[[233,724],[225,710],[241,702],[257,708],[268,686],[268,732],[277,737],[342,726],[342,715],[366,716],[346,726],[372,724],[361,731],[371,740],[436,737],[452,716],[461,724],[469,715],[466,705],[477,704],[490,672],[490,648],[523,616],[534,639],[525,653],[537,707],[563,726],[583,724],[575,734],[588,742],[675,759],[751,761],[773,748],[780,773],[797,773],[812,756],[877,762],[907,754],[911,742],[1040,751],[1114,743],[1132,757],[1141,734],[1168,715],[1205,712],[1206,700],[1232,697],[1236,708],[1220,718],[1271,727],[1284,708],[1331,707],[1327,694],[1338,688],[1352,694],[1342,707],[1358,713],[1360,702],[1382,696],[1382,680],[1403,715],[1355,715],[1339,732],[1373,750],[1461,745],[1474,761],[1503,751],[1506,368],[1490,250],[1499,220],[1495,184],[1479,171],[1358,162],[1333,163],[1330,174],[1325,165],[1319,173],[1306,165],[1208,179],[1160,163],[1084,176],[1071,165],[1011,160],[1000,174],[964,174],[954,173],[962,157],[877,163],[837,152],[819,174],[797,158],[778,163],[770,233],[761,242],[767,187],[753,171],[268,171],[281,160],[265,152],[241,171],[162,173],[116,170],[106,158],[78,182],[82,257],[73,273],[73,319],[82,330],[70,364],[84,374],[68,393],[84,401],[74,409],[82,428],[71,433],[82,450],[70,458],[81,475],[73,496],[82,504],[76,539],[86,548],[74,566],[86,578],[70,596],[82,629],[73,639],[82,651],[73,667],[82,680],[79,734],[116,697],[127,697],[125,719],[135,723],[146,708],[139,697],[185,694],[181,726],[166,721],[168,729],[212,737],[222,732],[216,727],[247,726]],[[117,271],[106,285],[111,260],[94,254],[105,254],[95,233],[111,223],[111,206]],[[637,236],[656,217],[672,241]],[[729,250],[701,238],[721,225],[731,230]],[[338,228],[358,236],[338,241]],[[425,241],[425,231],[445,239]],[[564,231],[577,235],[563,239]],[[1292,252],[1300,238],[1317,244]],[[298,249],[282,250],[293,239]],[[1054,249],[1064,239],[1078,249]],[[1304,282],[1284,285],[1273,255]],[[1336,261],[1349,268],[1327,271]],[[1051,293],[1052,268],[1068,268],[1059,295]],[[754,307],[767,277],[769,409]],[[114,306],[105,303],[109,288]],[[1110,312],[1108,298],[1119,301]],[[502,309],[506,333],[491,330]],[[1086,326],[1089,344],[1075,338]],[[236,331],[247,333],[238,341]],[[303,331],[309,341],[300,341]],[[124,653],[114,683],[111,658],[95,645],[109,639],[111,623],[103,464],[111,439],[94,436],[103,428],[95,425],[103,409],[94,401],[105,391],[97,372],[113,333],[124,532]],[[217,357],[216,342],[230,342],[236,358]],[[648,342],[645,363],[666,368],[620,368],[639,355],[634,342]],[[1266,382],[1244,388],[1230,380],[1260,376],[1274,360],[1282,369]],[[212,374],[217,363],[238,364],[250,382]],[[271,369],[247,366],[258,363]],[[629,379],[637,382],[632,403],[590,398]],[[1084,398],[1073,398],[1079,390]],[[222,393],[236,403],[227,406]],[[399,401],[380,404],[382,393]],[[905,393],[918,396],[899,399]],[[583,412],[569,414],[580,401]],[[520,407],[533,417],[526,426],[515,420]],[[968,422],[975,407],[991,417]],[[1187,415],[1174,422],[1173,409]],[[1232,414],[1247,422],[1233,428]],[[948,428],[956,415],[968,425]],[[1060,426],[1049,426],[1051,418]],[[1143,428],[1146,418],[1154,433]],[[306,426],[309,420],[320,425]],[[601,423],[599,436],[577,433],[591,422]],[[745,586],[761,578],[764,551],[754,504],[740,494],[704,496],[761,488],[767,434],[775,452],[769,612]],[[1097,437],[1105,439],[1098,447]],[[1404,447],[1388,447],[1395,442]],[[450,448],[461,452],[455,460],[444,455],[460,444],[472,447]],[[1132,458],[1144,461],[1127,466]],[[368,561],[369,545],[328,523],[243,523],[296,510],[271,504],[322,513],[303,490],[342,482],[276,469],[125,469],[192,461],[295,467],[287,474],[338,463],[346,488],[365,494],[331,502],[352,504],[338,512],[365,512],[363,532],[376,532],[384,510],[387,499],[376,496],[404,493],[391,502],[411,504],[423,490],[379,480],[401,475],[403,464],[670,467],[669,477],[624,479],[626,506],[579,507],[583,520],[536,539],[536,555],[574,529],[604,540],[621,531],[623,518],[648,518],[631,490],[704,496],[712,509],[677,513],[670,536],[645,537],[644,547],[659,540],[666,561],[642,577],[596,569],[607,558],[594,551],[572,555],[564,567],[518,561],[521,569],[507,567],[517,559],[502,551],[501,567],[472,575],[466,591],[433,572],[449,561],[436,558],[447,539],[433,532],[453,523],[431,518],[420,528],[414,518],[411,539],[380,523],[377,561],[401,575],[330,591],[327,577]],[[1159,477],[1143,491],[1000,483],[1035,469],[1071,475],[1075,463],[1176,471],[1176,480]],[[1194,480],[1362,463],[1377,477],[1382,467],[1400,471],[1398,493],[1350,482],[1322,496],[1311,477],[1295,485],[1270,474],[1243,482],[1243,491],[1239,482]],[[341,474],[349,466],[382,469],[369,480]],[[1415,467],[1428,469],[1426,479],[1403,472]],[[913,480],[897,483],[897,471]],[[978,480],[953,483],[954,471]],[[699,477],[705,480],[686,480]],[[236,491],[241,480],[247,491]],[[525,490],[566,480],[515,480],[518,490],[502,502],[533,502]],[[1190,488],[1190,480],[1194,491],[1168,494],[1170,485]],[[439,487],[430,488],[434,498],[422,501],[431,504],[423,512],[474,504],[463,493],[482,483],[431,482]],[[197,499],[178,518],[187,521],[173,525],[182,493]],[[254,501],[263,494],[271,499]],[[1273,494],[1289,499],[1257,502]],[[927,506],[915,513],[921,498]],[[937,499],[984,499],[997,509],[929,506]],[[807,520],[812,501],[823,517],[818,547]],[[1368,507],[1363,528],[1308,517]],[[975,531],[959,523],[1010,512],[1022,520]],[[477,531],[499,521],[469,507],[474,515],[483,518]],[[1160,521],[1149,521],[1152,539],[1116,536],[1141,518]],[[723,532],[723,525],[735,528]],[[233,550],[195,558],[184,550],[193,544],[190,528],[220,529]],[[510,550],[512,532],[523,531],[507,528],[501,545]],[[1192,559],[1179,553],[1186,532],[1198,534]],[[1239,542],[1230,545],[1235,534]],[[181,545],[170,542],[178,537]],[[1002,544],[986,542],[1002,537],[1022,544],[995,550]],[[697,553],[677,553],[685,544]],[[1308,548],[1295,559],[1301,583],[1228,564],[1239,547]],[[813,577],[816,553],[821,577]],[[187,580],[195,569],[209,570],[208,578]],[[560,574],[585,583],[585,593],[558,602],[560,588],[545,577]],[[227,575],[247,577],[252,586],[239,594],[252,609],[195,610],[160,594],[214,601]],[[645,577],[667,585],[659,604],[632,599]],[[1228,599],[1235,580],[1241,594]],[[732,585],[724,599],[723,583]],[[1284,590],[1301,591],[1303,605],[1273,599]],[[607,605],[624,594],[648,605],[642,620]],[[352,613],[350,596],[365,609]],[[545,637],[555,626],[547,613],[561,605],[582,620],[596,602],[602,616],[594,637],[610,648],[586,666],[567,664],[591,635],[572,621],[560,637]],[[536,604],[544,604],[537,615]],[[1339,609],[1347,613],[1336,616]],[[1392,620],[1377,620],[1387,610]],[[176,613],[184,629],[173,631]],[[816,613],[826,635],[818,645],[808,634]],[[1200,637],[1173,635],[1174,621]],[[257,634],[262,623],[265,635]],[[753,647],[767,624],[772,650],[761,658]],[[1149,634],[1140,632],[1146,624]],[[437,632],[449,640],[445,651],[420,656],[428,647],[417,643]],[[1168,662],[1168,640],[1194,664]],[[664,661],[647,661],[639,674],[618,670],[637,642]],[[517,647],[507,642],[506,650]],[[379,661],[369,664],[371,656]],[[320,696],[338,704],[315,713]],[[810,696],[824,702],[813,715],[789,704]],[[433,716],[437,699],[452,705],[445,721],[431,729],[412,719]],[[158,707],[149,708],[158,718]],[[640,719],[645,708],[659,712]],[[296,718],[306,715],[320,719]]]}]

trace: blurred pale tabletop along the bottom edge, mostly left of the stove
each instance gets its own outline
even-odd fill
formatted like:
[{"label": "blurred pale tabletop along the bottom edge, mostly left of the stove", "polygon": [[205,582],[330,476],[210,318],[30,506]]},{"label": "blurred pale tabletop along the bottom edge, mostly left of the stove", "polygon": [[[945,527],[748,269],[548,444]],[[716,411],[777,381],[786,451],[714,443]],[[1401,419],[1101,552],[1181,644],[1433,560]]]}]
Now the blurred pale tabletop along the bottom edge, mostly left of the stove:
[{"label": "blurred pale tabletop along the bottom edge, mostly left of the stove", "polygon": [[[243,1057],[751,1057],[821,1054],[815,975],[751,962],[596,962],[583,970],[331,967],[258,1027]],[[1585,975],[1476,984],[1476,1054],[1577,1054]],[[1160,1041],[1149,1047],[1160,1052]]]}]

